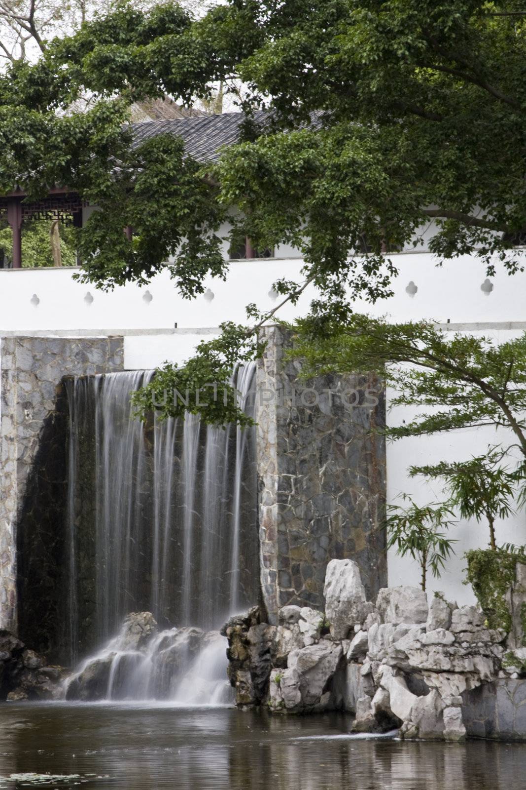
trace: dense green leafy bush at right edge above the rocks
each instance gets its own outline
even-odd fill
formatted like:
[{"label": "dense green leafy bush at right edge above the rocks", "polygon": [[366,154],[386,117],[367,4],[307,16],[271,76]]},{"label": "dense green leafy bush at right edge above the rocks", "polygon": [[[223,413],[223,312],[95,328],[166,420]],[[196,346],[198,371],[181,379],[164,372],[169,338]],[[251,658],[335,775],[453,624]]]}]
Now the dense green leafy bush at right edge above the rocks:
[{"label": "dense green leafy bush at right edge above the rocks", "polygon": [[487,616],[490,628],[511,630],[511,614],[505,602],[505,593],[515,581],[517,562],[526,562],[524,547],[498,547],[473,549],[466,553],[467,581]]}]

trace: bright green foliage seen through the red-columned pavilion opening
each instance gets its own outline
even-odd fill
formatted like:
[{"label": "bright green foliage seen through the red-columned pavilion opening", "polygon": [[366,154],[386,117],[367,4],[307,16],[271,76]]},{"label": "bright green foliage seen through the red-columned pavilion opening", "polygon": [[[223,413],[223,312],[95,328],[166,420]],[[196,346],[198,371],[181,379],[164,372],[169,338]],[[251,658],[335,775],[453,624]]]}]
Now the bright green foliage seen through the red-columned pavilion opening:
[{"label": "bright green foliage seen through the red-columned pavilion opening", "polygon": [[[51,220],[34,219],[22,226],[22,265],[26,267],[53,266],[50,243]],[[59,224],[60,247],[63,266],[76,266],[76,239],[73,228]],[[11,228],[0,230],[0,247],[5,250],[9,260],[13,254],[13,234]]]}]

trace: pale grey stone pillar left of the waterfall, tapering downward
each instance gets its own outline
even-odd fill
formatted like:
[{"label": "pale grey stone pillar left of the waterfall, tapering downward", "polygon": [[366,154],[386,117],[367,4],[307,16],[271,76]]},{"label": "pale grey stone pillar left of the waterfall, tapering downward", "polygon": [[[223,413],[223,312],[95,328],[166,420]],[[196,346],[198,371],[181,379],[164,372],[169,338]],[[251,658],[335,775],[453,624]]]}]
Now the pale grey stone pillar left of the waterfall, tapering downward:
[{"label": "pale grey stone pillar left of the waterfall, tapering downward", "polygon": [[62,377],[122,367],[121,337],[0,339],[0,628],[17,631],[17,529]]}]

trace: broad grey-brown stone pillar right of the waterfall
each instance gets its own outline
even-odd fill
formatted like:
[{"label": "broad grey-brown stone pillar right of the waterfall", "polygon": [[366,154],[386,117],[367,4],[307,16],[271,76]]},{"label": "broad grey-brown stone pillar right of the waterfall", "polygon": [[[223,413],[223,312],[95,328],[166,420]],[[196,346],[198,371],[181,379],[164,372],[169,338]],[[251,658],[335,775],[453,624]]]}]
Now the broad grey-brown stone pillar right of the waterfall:
[{"label": "broad grey-brown stone pillar right of the waterfall", "polygon": [[298,381],[286,334],[263,329],[256,389],[259,539],[269,622],[298,604],[323,610],[330,559],[354,559],[369,599],[387,584],[385,393],[375,376]]}]

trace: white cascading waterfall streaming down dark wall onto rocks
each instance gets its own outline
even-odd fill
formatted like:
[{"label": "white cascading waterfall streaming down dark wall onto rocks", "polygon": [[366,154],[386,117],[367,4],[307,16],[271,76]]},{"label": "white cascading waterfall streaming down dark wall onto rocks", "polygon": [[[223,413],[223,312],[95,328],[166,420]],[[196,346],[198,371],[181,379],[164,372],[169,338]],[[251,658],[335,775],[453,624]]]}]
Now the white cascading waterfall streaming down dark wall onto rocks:
[{"label": "white cascading waterfall streaming down dark wall onto rocks", "polygon": [[[240,366],[233,380],[248,413],[255,372],[254,363]],[[255,431],[188,414],[131,419],[129,394],[151,375],[67,385],[65,643],[73,665],[91,653],[67,694],[224,702],[226,640],[215,629],[259,594]],[[142,614],[118,634],[132,612]],[[139,644],[130,634],[143,634],[147,612],[159,626],[148,620]]]}]

